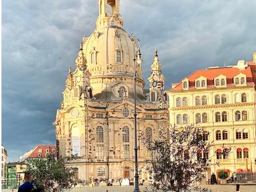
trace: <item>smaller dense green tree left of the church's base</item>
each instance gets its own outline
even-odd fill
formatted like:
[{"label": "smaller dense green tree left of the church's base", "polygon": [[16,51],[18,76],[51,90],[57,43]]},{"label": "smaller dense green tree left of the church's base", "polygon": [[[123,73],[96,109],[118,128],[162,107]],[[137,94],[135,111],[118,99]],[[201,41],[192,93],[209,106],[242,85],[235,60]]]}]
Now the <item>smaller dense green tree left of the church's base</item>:
[{"label": "smaller dense green tree left of the church's base", "polygon": [[33,174],[36,184],[44,191],[64,191],[72,188],[75,182],[75,170],[65,167],[66,161],[68,159],[55,159],[52,155],[46,159],[28,159],[28,171]]}]

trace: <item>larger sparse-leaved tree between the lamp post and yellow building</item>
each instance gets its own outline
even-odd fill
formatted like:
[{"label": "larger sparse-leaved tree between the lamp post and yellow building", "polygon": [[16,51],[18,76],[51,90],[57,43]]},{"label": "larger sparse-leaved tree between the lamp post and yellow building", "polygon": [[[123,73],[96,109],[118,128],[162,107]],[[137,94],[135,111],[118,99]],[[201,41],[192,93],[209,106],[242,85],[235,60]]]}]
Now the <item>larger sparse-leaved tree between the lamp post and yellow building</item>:
[{"label": "larger sparse-leaved tree between the lamp post and yellow building", "polygon": [[[153,191],[191,191],[192,184],[204,178],[202,174],[211,165],[209,157],[212,142],[207,141],[209,132],[204,128],[188,125],[180,129],[170,128],[161,140],[151,141],[147,134],[142,140],[152,154],[147,163],[148,172],[154,179]],[[223,154],[230,148],[223,145]],[[202,189],[204,191],[205,189]]]}]

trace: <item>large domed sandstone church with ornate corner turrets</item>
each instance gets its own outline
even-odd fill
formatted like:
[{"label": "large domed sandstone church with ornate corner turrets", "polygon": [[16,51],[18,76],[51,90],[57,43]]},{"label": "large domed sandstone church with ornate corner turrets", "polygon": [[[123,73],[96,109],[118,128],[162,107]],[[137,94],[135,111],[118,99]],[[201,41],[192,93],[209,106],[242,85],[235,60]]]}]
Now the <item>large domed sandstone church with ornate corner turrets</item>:
[{"label": "large domed sandstone church with ornate corner turrets", "polygon": [[83,37],[78,49],[53,123],[57,156],[77,156],[68,163],[76,168],[76,179],[132,179],[135,90],[138,172],[140,179],[148,180],[145,161],[150,153],[140,136],[158,140],[170,126],[157,51],[152,55],[151,75],[144,81],[140,41],[123,28],[120,0],[99,0],[96,28]]}]

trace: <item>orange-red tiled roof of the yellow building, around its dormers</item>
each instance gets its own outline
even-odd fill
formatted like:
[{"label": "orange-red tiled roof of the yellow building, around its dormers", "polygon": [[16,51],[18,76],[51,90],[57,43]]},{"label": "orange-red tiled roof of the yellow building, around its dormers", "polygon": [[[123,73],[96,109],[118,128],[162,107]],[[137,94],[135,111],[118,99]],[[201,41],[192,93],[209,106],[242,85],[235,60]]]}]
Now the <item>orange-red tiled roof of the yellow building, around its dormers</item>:
[{"label": "orange-red tiled roof of the yellow building, around its dormers", "polygon": [[[189,80],[189,90],[195,89],[195,79],[200,76],[207,78],[207,88],[214,88],[214,78],[220,75],[227,77],[227,86],[234,86],[234,77],[237,74],[245,74],[247,84],[256,84],[256,65],[254,62],[247,62],[248,67],[240,70],[236,67],[223,68],[207,68],[204,70],[196,70],[190,76],[186,77]],[[174,83],[173,83],[174,84]],[[170,92],[182,90],[182,81],[175,83],[177,86],[171,88]]]}]

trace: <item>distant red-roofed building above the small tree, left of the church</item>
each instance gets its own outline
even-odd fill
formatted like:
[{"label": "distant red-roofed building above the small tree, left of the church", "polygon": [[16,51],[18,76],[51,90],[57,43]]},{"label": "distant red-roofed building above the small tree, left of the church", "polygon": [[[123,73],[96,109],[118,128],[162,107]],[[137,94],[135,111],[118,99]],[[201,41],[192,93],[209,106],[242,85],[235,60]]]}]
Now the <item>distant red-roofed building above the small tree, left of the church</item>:
[{"label": "distant red-roofed building above the small tree, left of the church", "polygon": [[28,158],[45,158],[47,154],[56,155],[56,145],[38,145],[23,156],[20,156],[20,162],[24,162]]}]

